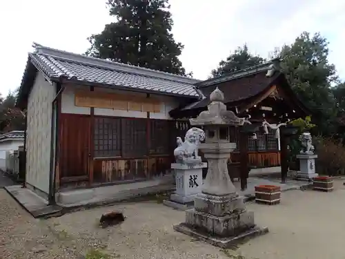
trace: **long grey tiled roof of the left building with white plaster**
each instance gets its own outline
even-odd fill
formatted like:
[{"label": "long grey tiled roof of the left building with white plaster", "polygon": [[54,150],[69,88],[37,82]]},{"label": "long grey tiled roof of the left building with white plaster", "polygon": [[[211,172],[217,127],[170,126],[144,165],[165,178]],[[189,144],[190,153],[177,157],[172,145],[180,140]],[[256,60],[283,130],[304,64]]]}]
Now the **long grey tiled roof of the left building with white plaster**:
[{"label": "long grey tiled roof of the left building with white plaster", "polygon": [[[201,95],[194,86],[197,79],[172,75],[148,68],[129,66],[105,59],[86,57],[71,52],[55,50],[34,44],[35,51],[29,53],[30,63],[41,70],[46,79],[59,81],[67,79],[81,84],[95,84],[108,87],[139,90],[147,93],[199,98]],[[27,69],[28,70],[28,66]],[[21,87],[26,84],[24,74]]]}]

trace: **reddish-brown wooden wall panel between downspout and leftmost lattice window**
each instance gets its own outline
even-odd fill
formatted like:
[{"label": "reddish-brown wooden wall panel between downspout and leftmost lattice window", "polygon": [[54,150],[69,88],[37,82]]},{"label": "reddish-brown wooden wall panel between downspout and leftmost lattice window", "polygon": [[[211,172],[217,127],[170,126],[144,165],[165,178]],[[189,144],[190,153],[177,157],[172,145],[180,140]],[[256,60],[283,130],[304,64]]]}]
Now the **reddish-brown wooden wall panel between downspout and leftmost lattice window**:
[{"label": "reddish-brown wooden wall panel between downspout and leftmost lattice window", "polygon": [[61,182],[88,177],[90,116],[61,113],[59,133],[59,175]]}]

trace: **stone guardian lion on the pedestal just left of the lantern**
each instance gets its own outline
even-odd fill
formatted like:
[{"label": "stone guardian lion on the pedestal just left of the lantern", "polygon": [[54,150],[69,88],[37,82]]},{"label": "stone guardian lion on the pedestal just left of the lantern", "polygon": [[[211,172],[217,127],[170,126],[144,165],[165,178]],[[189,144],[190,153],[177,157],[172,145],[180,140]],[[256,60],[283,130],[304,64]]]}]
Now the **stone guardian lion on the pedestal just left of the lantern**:
[{"label": "stone guardian lion on the pedestal just left of the lantern", "polygon": [[205,140],[205,133],[200,128],[190,128],[184,137],[177,137],[177,148],[174,155],[177,163],[180,164],[197,164],[201,162],[198,154],[199,144]]}]

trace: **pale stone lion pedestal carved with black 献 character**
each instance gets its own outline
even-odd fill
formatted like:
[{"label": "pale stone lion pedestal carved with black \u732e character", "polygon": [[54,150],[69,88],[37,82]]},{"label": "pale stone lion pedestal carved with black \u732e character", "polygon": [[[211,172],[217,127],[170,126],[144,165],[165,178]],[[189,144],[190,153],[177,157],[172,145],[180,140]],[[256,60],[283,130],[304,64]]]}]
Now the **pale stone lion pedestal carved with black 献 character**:
[{"label": "pale stone lion pedestal carved with black \u732e character", "polygon": [[171,169],[175,169],[176,192],[170,195],[169,200],[163,203],[175,209],[187,209],[193,207],[195,195],[201,193],[202,169],[207,167],[207,163],[199,164],[171,164]]}]

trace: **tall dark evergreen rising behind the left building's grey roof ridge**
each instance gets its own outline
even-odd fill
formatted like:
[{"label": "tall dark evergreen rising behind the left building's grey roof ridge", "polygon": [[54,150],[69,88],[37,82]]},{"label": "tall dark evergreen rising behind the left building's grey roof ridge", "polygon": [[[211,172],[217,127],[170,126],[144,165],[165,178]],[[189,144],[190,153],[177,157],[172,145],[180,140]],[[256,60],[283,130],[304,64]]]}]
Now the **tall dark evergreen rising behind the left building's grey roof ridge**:
[{"label": "tall dark evergreen rising behind the left building's grey roof ridge", "polygon": [[171,33],[168,0],[108,0],[116,21],[88,38],[86,55],[186,75],[179,55],[184,48]]}]

